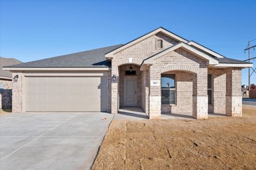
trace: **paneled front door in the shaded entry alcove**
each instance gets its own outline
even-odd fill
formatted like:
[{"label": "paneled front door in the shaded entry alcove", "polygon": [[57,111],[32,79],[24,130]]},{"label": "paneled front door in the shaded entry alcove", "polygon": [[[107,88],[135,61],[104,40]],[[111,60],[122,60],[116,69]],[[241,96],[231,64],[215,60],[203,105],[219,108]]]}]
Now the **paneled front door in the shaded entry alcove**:
[{"label": "paneled front door in the shaded entry alcove", "polygon": [[124,79],[124,106],[137,106],[137,79]]}]

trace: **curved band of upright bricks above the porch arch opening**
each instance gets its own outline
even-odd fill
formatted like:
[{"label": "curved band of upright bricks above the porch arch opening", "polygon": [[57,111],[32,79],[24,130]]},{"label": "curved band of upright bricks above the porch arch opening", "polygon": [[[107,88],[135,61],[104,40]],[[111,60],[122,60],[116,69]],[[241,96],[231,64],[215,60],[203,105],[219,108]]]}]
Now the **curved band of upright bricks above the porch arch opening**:
[{"label": "curved band of upright bricks above the porch arch opening", "polygon": [[180,71],[189,71],[197,74],[198,67],[191,66],[188,64],[169,64],[167,66],[164,66],[159,69],[160,73],[167,72],[167,71],[173,71],[173,70],[180,70]]}]

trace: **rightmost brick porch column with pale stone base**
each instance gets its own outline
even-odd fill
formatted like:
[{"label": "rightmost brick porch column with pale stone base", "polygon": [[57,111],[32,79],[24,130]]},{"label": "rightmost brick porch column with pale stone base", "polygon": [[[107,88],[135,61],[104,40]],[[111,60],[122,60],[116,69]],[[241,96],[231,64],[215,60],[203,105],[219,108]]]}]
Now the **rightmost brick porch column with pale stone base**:
[{"label": "rightmost brick porch column with pale stone base", "polygon": [[227,69],[226,74],[226,115],[242,117],[242,93],[241,93],[240,68]]}]

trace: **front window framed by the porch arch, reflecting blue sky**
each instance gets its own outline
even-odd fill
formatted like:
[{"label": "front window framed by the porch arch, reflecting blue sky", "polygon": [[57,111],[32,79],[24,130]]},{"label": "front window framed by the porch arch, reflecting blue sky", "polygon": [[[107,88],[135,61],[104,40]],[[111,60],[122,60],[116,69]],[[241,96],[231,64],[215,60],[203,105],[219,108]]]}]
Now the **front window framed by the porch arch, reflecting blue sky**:
[{"label": "front window framed by the porch arch, reflecting blue sky", "polygon": [[162,104],[175,104],[175,75],[161,77]]}]

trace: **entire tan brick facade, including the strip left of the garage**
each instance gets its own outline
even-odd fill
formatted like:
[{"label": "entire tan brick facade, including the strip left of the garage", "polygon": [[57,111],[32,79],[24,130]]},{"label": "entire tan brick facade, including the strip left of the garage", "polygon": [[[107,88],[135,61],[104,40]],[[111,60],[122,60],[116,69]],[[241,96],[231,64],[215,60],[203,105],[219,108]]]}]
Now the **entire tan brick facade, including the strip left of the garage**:
[{"label": "entire tan brick facade, including the strip left of the garage", "polygon": [[[162,44],[156,44],[158,41]],[[241,68],[210,68],[201,56],[180,47],[155,59],[148,69],[140,70],[143,60],[177,43],[158,33],[114,53],[108,72],[108,112],[117,114],[119,107],[124,106],[124,78],[134,77],[137,79],[137,106],[150,119],[161,118],[161,112],[192,113],[197,119],[207,118],[208,112],[242,116]],[[125,75],[130,67],[137,75]],[[153,80],[161,82],[162,74],[175,74],[175,104],[162,104],[161,85],[150,85]],[[211,104],[208,104],[207,74],[212,75]],[[13,71],[15,75],[19,78],[13,83],[13,112],[21,112],[25,77],[22,71]]]}]

